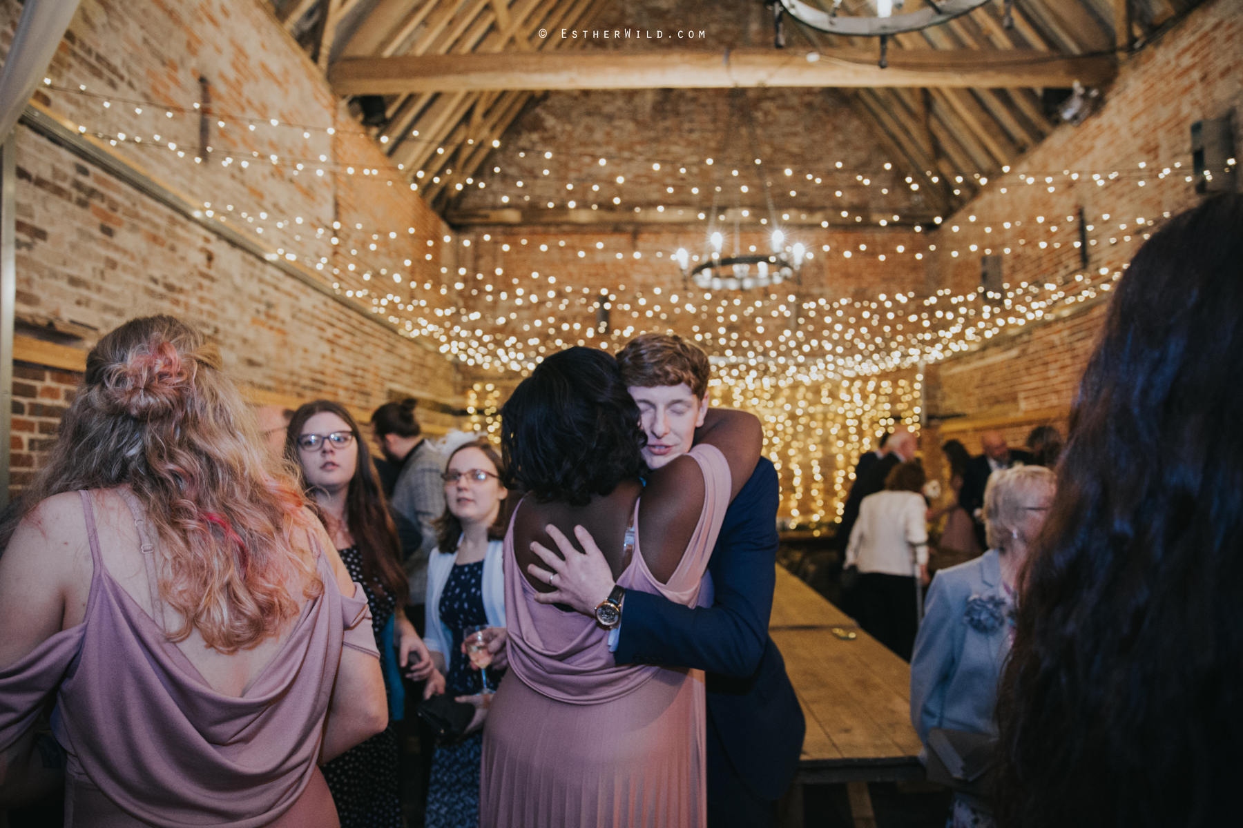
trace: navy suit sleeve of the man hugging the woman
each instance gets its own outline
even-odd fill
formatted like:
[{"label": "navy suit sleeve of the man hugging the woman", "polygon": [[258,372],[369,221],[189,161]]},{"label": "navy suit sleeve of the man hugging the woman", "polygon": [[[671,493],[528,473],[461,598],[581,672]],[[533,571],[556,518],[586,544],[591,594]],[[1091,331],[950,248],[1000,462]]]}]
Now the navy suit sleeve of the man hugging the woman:
[{"label": "navy suit sleeve of the man hugging the woman", "polygon": [[766,459],[726,514],[709,571],[711,607],[685,607],[629,591],[614,659],[690,667],[736,678],[755,674],[768,641],[777,581],[777,473]]}]

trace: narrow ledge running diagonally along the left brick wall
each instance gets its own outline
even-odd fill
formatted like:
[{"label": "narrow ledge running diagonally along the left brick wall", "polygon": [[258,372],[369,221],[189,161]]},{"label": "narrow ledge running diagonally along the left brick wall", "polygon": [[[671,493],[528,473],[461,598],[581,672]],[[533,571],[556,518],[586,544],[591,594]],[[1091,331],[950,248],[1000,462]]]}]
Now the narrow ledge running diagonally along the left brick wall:
[{"label": "narrow ledge running diagonally along the left brick wall", "polygon": [[424,341],[423,338],[419,336],[408,336],[403,329],[398,328],[388,319],[383,319],[377,314],[365,312],[362,307],[351,302],[347,297],[336,293],[328,284],[321,282],[310,271],[298,267],[293,262],[286,261],[277,254],[275,250],[267,248],[257,238],[252,238],[247,233],[205,215],[203,210],[186,196],[162,184],[135,164],[111,151],[103,143],[75,132],[73,128],[60,115],[31,103],[26,106],[26,110],[22,113],[20,123],[29,127],[31,132],[39,133],[58,146],[63,146],[82,160],[93,164],[104,173],[128,184],[143,195],[157,201],[158,204],[164,205],[184,218],[193,221],[210,233],[219,236],[234,247],[245,251],[256,258],[261,258],[265,263],[271,264],[288,276],[292,276],[302,284],[328,297],[337,304],[358,314],[363,319],[367,319],[389,333],[395,334],[404,341],[414,343],[415,345],[419,345],[420,348],[424,348],[436,355],[441,355],[440,350],[435,345]]}]

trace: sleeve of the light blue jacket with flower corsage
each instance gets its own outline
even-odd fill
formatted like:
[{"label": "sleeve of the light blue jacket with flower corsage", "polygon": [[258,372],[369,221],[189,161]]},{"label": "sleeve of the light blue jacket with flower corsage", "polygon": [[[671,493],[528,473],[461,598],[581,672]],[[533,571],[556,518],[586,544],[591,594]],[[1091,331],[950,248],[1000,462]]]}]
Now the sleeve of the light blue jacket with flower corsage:
[{"label": "sleeve of the light blue jacket with flower corsage", "polygon": [[941,726],[946,690],[966,634],[962,601],[953,595],[952,578],[937,572],[925,610],[911,654],[911,724],[926,746],[929,730]]}]

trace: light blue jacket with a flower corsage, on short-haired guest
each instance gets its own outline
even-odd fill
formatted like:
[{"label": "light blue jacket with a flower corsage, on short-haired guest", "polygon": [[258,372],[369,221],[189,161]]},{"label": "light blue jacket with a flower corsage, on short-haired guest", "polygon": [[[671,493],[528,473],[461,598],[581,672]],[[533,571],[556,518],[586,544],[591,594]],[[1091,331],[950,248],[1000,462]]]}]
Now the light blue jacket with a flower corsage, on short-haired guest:
[{"label": "light blue jacket with a flower corsage, on short-haired guest", "polygon": [[997,550],[941,570],[911,657],[911,724],[997,735],[997,683],[1011,648],[1012,603]]}]

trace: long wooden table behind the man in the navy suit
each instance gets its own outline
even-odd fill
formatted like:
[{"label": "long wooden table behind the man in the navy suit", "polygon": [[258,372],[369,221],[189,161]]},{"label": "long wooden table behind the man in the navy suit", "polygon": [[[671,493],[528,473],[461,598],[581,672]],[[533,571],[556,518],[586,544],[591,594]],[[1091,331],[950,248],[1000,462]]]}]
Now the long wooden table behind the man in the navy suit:
[{"label": "long wooden table behind the man in the navy suit", "polygon": [[910,665],[781,566],[768,632],[807,719],[783,822],[803,824],[803,785],[844,782],[855,824],[871,824],[868,782],[924,778]]}]

